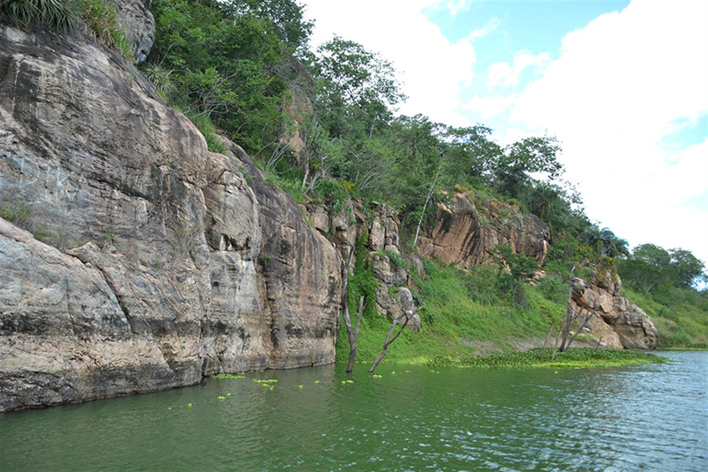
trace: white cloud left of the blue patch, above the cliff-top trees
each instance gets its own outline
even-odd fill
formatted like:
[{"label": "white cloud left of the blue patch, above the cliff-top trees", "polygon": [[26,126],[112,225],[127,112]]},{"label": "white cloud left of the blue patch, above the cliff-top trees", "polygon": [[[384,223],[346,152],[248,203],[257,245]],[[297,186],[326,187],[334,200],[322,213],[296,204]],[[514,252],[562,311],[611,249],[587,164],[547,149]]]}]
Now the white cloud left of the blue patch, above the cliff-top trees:
[{"label": "white cloud left of the blue patch, above the cliff-top trees", "polygon": [[457,94],[473,77],[476,54],[472,40],[495,27],[494,22],[466,38],[450,42],[421,10],[430,0],[360,0],[350,6],[331,0],[306,2],[308,17],[316,18],[312,45],[339,35],[379,52],[399,71],[409,99],[400,113],[425,113],[431,120],[469,125],[459,114]]}]

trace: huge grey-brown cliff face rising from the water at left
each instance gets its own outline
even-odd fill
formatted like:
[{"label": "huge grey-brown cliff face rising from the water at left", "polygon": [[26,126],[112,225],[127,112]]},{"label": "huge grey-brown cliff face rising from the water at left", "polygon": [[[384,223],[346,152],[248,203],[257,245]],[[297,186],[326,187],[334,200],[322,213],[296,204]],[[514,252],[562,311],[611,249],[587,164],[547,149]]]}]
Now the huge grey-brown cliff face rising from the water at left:
[{"label": "huge grey-brown cliff face rising from the water at left", "polygon": [[0,410],[333,362],[331,243],[117,53],[0,26],[0,123]]}]

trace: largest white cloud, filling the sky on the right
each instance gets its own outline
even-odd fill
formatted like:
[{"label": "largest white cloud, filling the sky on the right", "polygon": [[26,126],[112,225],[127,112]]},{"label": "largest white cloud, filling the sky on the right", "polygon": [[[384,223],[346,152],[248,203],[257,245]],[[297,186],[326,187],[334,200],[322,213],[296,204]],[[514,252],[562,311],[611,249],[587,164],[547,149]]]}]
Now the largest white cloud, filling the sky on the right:
[{"label": "largest white cloud, filling the sky on the right", "polygon": [[677,120],[708,113],[708,3],[632,2],[566,35],[561,56],[518,96],[510,120],[549,129],[588,214],[632,244],[708,261],[708,140],[669,152]]}]

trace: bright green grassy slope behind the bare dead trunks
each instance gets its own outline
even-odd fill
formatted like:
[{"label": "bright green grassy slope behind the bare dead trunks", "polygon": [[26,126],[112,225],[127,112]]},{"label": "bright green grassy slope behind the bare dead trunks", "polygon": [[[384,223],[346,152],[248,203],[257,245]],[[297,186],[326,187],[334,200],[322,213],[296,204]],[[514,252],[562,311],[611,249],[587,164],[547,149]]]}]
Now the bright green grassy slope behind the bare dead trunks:
[{"label": "bright green grassy slope behind the bare dead trunks", "polygon": [[[373,280],[373,275],[370,277]],[[465,272],[453,265],[426,261],[426,277],[416,280],[418,297],[425,300],[424,309],[418,313],[421,330],[412,333],[406,328],[387,353],[386,362],[428,362],[440,356],[510,350],[514,341],[543,338],[550,321],[563,316],[564,294],[524,284],[525,302],[519,304],[515,291],[500,284],[499,279],[497,267],[491,265]],[[358,298],[351,298],[350,306],[354,306],[353,299]],[[376,358],[390,326],[384,316],[367,307],[357,343],[358,362]],[[338,362],[348,359],[347,343],[346,333],[340,330]]]}]

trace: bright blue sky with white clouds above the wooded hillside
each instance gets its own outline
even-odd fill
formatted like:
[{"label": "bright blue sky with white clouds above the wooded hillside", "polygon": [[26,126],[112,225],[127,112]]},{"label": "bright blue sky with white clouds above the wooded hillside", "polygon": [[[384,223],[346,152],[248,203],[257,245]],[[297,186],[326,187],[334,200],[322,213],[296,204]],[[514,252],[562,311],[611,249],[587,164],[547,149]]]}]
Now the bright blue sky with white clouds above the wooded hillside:
[{"label": "bright blue sky with white clouds above the wooded hillside", "polygon": [[302,0],[381,54],[404,115],[549,134],[586,214],[708,263],[708,1]]}]

